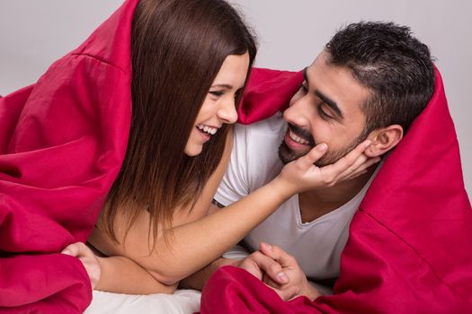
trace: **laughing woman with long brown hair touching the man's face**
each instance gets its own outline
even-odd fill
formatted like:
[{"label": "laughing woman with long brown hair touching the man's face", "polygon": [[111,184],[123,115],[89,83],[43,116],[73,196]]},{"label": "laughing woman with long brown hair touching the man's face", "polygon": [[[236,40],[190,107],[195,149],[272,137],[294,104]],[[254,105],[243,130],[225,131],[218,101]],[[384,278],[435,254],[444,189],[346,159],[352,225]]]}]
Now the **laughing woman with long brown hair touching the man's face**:
[{"label": "laughing woman with long brown hair touching the man's face", "polygon": [[[133,115],[129,144],[99,222],[79,257],[96,289],[174,292],[235,245],[290,196],[343,179],[356,150],[330,171],[317,146],[244,200],[209,214],[227,167],[230,124],[254,62],[254,38],[224,0],[141,0],[131,36]],[[359,157],[359,158],[358,158]],[[354,162],[356,161],[356,162]]]}]

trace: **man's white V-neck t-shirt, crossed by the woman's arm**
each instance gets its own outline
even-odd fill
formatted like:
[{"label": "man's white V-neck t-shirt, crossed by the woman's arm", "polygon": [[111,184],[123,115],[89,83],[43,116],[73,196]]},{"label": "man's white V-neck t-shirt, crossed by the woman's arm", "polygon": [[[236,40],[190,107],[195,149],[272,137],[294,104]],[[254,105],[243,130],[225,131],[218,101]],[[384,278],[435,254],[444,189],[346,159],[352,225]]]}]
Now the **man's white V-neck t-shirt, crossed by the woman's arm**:
[{"label": "man's white V-neck t-shirt, crossed by the woman's arm", "polygon": [[[218,203],[231,205],[280,173],[277,152],[286,129],[281,114],[250,126],[236,125],[231,160],[215,196]],[[309,279],[337,278],[352,215],[373,178],[348,203],[313,222],[301,222],[298,195],[292,196],[245,237],[245,248],[257,250],[261,241],[275,244],[297,258]]]}]

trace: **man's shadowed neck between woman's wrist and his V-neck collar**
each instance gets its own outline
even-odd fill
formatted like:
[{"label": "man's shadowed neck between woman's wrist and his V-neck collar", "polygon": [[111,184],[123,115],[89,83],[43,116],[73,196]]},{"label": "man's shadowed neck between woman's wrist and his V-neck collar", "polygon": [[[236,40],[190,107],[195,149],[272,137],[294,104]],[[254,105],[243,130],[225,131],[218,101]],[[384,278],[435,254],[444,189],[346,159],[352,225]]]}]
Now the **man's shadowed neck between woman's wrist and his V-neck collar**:
[{"label": "man's shadowed neck between woman's wrist and his V-neck collar", "polygon": [[333,212],[349,202],[369,182],[376,168],[376,166],[370,167],[367,173],[357,178],[340,182],[333,187],[318,188],[298,194],[301,221],[313,222],[316,218]]}]

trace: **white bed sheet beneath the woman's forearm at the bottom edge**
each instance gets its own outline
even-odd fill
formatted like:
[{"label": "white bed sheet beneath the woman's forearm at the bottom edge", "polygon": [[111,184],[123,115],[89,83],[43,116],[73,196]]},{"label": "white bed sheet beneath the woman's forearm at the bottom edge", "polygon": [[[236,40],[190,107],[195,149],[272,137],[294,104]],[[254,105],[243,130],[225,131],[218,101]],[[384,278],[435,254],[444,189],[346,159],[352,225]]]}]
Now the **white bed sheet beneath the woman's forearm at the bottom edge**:
[{"label": "white bed sheet beneath the woman's forearm at the bottom edge", "polygon": [[177,290],[174,294],[130,295],[94,291],[85,314],[191,314],[200,311],[200,292]]}]

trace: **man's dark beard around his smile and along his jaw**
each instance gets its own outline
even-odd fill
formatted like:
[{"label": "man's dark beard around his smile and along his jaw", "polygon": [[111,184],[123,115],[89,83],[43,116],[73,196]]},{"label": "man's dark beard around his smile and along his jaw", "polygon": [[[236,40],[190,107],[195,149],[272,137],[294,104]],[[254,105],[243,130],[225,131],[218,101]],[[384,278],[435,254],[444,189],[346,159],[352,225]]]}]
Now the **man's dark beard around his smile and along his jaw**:
[{"label": "man's dark beard around his smile and along his jaw", "polygon": [[[292,151],[289,146],[285,143],[285,140],[282,141],[281,145],[279,146],[279,158],[281,159],[283,164],[287,164],[290,161],[295,161],[296,159],[300,158],[301,156],[306,155],[313,147],[316,146],[315,139],[313,136],[311,136],[306,130],[299,128],[297,126],[293,126],[289,124],[289,129],[301,137],[302,139],[306,140],[308,142],[306,151],[304,152],[294,152]],[[359,135],[356,139],[352,141],[352,143],[346,145],[342,149],[336,150],[336,151],[330,151],[328,149],[328,152],[326,152],[319,160],[315,162],[315,165],[317,167],[323,167],[329,164],[332,164],[336,161],[339,161],[341,158],[343,158],[347,153],[351,152],[354,148],[356,148],[357,145],[361,144],[367,139],[368,132],[366,129],[364,129],[361,132],[361,135]]]}]

